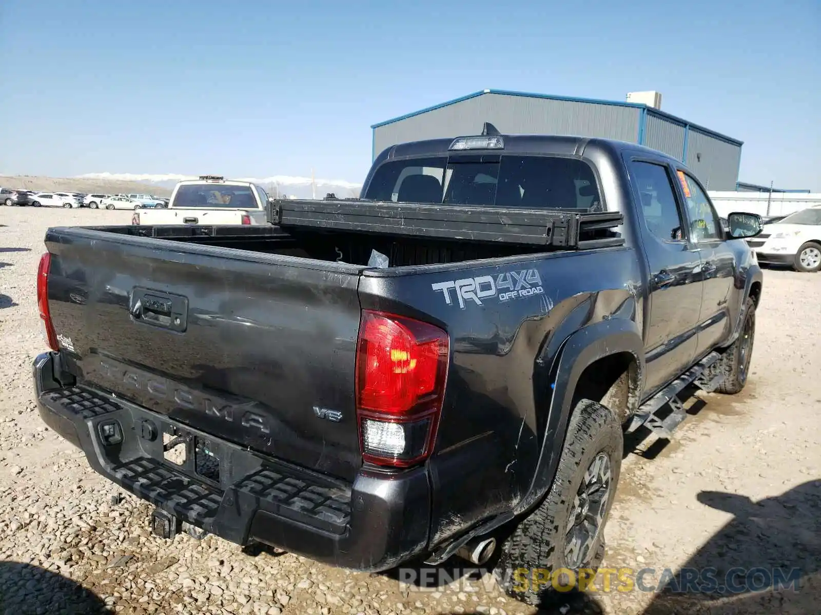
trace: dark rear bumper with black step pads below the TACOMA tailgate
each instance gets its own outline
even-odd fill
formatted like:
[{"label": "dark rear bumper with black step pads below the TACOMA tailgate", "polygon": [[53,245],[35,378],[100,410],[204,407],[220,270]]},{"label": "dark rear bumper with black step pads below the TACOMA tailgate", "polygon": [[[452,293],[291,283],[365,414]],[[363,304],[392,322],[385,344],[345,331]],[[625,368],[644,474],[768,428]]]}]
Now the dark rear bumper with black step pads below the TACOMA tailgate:
[{"label": "dark rear bumper with black step pads below the TACOMA tailgate", "polygon": [[[34,359],[40,417],[82,449],[95,471],[183,521],[237,544],[258,540],[369,572],[396,567],[427,548],[424,468],[362,469],[353,484],[337,481],[102,391],[63,387],[55,378],[58,357]],[[183,465],[164,458],[163,434],[184,440]]]}]

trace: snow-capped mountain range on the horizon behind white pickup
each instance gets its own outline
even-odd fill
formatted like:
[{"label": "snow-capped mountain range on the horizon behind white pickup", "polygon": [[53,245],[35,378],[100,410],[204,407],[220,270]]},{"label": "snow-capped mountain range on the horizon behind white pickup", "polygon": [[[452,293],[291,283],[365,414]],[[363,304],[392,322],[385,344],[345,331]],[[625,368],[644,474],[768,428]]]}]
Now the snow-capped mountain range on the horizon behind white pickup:
[{"label": "snow-capped mountain range on the horizon behind white pickup", "polygon": [[[95,180],[104,182],[129,182],[156,186],[157,189],[171,190],[181,180],[195,180],[197,175],[177,174],[139,174],[139,173],[85,173],[78,176],[78,180]],[[333,193],[339,198],[359,196],[361,184],[346,180],[314,179],[313,187],[310,177],[295,177],[292,175],[272,175],[271,177],[232,177],[241,181],[253,181],[268,191],[271,196],[289,196],[295,198],[323,198],[325,194]],[[150,189],[147,189],[150,191]]]}]

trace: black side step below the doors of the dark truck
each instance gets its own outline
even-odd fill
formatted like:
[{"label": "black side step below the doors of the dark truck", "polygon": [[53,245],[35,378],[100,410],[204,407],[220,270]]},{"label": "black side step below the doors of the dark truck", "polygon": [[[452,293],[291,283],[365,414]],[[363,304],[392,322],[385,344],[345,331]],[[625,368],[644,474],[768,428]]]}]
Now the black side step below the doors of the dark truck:
[{"label": "black side step below the doors of the dark truck", "polygon": [[[673,430],[681,425],[681,421],[684,421],[687,417],[684,404],[681,403],[677,395],[690,383],[695,383],[696,386],[708,393],[717,389],[718,385],[721,385],[722,380],[724,380],[724,376],[722,374],[713,376],[708,369],[719,358],[721,358],[719,353],[709,353],[676,380],[673,380],[652,398],[648,399],[639,408],[639,412],[635,413],[630,425],[627,427],[627,433],[646,425],[659,438],[671,439]],[[669,406],[672,412],[667,414],[666,417],[659,417],[658,412],[665,406]]]}]

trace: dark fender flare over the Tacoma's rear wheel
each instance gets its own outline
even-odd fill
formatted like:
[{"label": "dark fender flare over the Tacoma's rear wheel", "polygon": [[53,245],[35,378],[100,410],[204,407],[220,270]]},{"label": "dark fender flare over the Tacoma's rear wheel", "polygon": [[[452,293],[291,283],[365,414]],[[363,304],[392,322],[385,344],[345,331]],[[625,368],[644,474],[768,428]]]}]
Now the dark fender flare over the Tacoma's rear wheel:
[{"label": "dark fender flare over the Tacoma's rear wheel", "polygon": [[589,365],[617,353],[631,353],[638,366],[638,381],[644,380],[644,340],[639,326],[624,318],[599,321],[568,336],[559,355],[553,379],[547,427],[530,488],[522,495],[514,512],[530,509],[553,484],[573,408],[576,385]]}]

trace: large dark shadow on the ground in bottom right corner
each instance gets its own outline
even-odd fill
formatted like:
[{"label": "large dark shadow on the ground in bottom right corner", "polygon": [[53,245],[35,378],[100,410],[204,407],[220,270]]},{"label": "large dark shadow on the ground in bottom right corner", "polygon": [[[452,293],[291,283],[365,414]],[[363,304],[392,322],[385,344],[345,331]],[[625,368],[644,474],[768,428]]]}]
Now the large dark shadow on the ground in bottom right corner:
[{"label": "large dark shadow on the ground in bottom right corner", "polygon": [[716,491],[698,499],[733,518],[673,573],[643,615],[819,613],[821,480],[758,502]]}]

